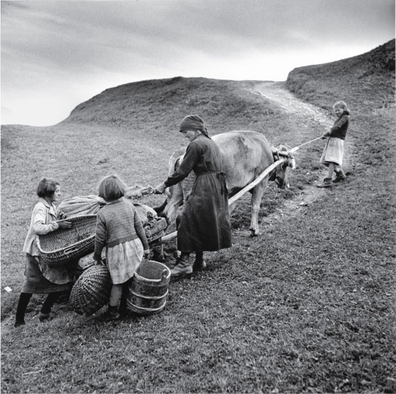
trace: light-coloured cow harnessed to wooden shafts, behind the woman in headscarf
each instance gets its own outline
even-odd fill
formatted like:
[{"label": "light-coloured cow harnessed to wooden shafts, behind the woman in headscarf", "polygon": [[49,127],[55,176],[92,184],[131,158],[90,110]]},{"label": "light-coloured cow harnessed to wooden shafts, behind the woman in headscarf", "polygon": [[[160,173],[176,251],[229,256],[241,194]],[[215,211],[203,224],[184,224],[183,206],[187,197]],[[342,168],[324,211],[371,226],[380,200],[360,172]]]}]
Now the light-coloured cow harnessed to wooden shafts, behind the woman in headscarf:
[{"label": "light-coloured cow harnessed to wooden shafts, behind the woman in headscarf", "polygon": [[[267,138],[257,131],[229,131],[217,134],[212,137],[222,153],[223,168],[226,173],[226,186],[229,197],[236,195],[238,191],[249,185],[267,167],[274,163],[274,153]],[[179,166],[185,148],[174,151],[170,157],[168,174],[172,174]],[[288,188],[288,167],[295,167],[295,159],[288,157],[285,162],[276,167],[267,177],[265,177],[251,192],[251,236],[258,236],[258,212],[260,211],[261,199],[267,188],[267,181],[275,181],[279,188]],[[165,213],[169,222],[176,219],[176,212],[179,206],[190,194],[192,184],[195,181],[194,172],[180,183],[171,186],[165,193],[167,199],[164,204],[155,208],[157,212]],[[229,206],[230,213],[235,208],[236,202]]]}]

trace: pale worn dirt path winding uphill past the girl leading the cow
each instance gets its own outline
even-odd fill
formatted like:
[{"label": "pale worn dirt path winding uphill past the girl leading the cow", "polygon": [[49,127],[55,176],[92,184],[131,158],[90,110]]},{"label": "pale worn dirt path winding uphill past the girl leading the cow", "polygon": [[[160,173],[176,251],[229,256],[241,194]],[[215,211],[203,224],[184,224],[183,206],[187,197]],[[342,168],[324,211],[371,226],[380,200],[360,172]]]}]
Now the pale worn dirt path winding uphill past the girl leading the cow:
[{"label": "pale worn dirt path winding uphill past the girl leading the cow", "polygon": [[[281,108],[287,110],[290,113],[294,113],[304,119],[306,124],[315,122],[316,124],[321,124],[324,130],[328,130],[333,125],[333,120],[329,119],[327,115],[311,104],[307,104],[304,101],[297,99],[292,93],[290,93],[286,87],[285,82],[264,82],[255,86],[255,92],[266,99],[275,101]],[[308,141],[312,140],[312,133],[309,128],[300,131],[299,140]],[[353,150],[353,147],[349,147],[349,151]],[[347,156],[347,155],[346,155]],[[345,163],[347,165],[347,163]],[[318,173],[317,181],[322,180],[322,172]],[[264,225],[271,225],[277,222],[287,220],[290,217],[295,217],[301,211],[309,208],[309,206],[315,202],[316,199],[322,197],[326,190],[316,187],[314,185],[308,185],[300,195],[292,200],[288,200],[282,208],[279,208],[277,213],[269,215],[262,220]]]}]

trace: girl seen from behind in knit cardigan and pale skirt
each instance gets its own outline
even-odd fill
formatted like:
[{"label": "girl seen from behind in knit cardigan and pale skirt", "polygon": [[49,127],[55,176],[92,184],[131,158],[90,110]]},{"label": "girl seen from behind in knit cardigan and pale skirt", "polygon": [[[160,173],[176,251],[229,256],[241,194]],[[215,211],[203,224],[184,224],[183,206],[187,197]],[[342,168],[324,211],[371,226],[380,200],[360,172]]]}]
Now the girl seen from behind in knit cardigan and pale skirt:
[{"label": "girl seen from behind in knit cardigan and pale skirt", "polygon": [[106,265],[113,286],[107,318],[119,318],[119,303],[123,284],[126,283],[142,261],[149,257],[149,243],[142,222],[132,202],[124,198],[126,186],[115,175],[104,178],[99,185],[99,197],[106,205],[97,213],[94,260],[101,261],[106,247]]}]

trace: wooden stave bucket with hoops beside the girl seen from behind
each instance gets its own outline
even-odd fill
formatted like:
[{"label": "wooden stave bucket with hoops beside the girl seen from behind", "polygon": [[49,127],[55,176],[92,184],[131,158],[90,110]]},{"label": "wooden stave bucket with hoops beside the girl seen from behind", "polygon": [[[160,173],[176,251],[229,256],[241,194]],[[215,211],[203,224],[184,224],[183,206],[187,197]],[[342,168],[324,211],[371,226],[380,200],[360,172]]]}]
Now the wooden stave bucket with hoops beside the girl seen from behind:
[{"label": "wooden stave bucket with hoops beside the girl seen from behind", "polygon": [[154,315],[165,308],[170,269],[158,261],[144,260],[128,286],[126,305],[140,315]]}]

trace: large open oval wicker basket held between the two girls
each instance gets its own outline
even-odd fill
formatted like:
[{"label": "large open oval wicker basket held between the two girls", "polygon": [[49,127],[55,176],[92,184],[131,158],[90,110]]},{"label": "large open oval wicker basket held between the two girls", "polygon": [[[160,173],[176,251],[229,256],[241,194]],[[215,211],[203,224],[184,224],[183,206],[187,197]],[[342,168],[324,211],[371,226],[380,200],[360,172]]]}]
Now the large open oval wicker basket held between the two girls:
[{"label": "large open oval wicker basket held between the two girls", "polygon": [[69,217],[71,229],[58,229],[37,236],[41,260],[51,266],[69,263],[94,251],[97,215]]}]

